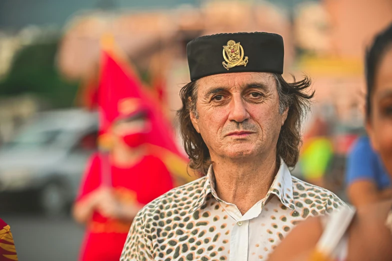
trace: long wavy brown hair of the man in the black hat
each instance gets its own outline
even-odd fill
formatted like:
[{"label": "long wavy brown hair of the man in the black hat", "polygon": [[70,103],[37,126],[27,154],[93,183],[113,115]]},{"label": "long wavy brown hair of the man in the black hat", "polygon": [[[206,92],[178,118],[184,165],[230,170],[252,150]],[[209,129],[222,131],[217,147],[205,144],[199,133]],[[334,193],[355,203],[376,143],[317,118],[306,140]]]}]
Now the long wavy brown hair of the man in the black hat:
[{"label": "long wavy brown hair of the man in the black hat", "polygon": [[[280,74],[272,73],[276,80],[279,95],[279,113],[288,108],[287,118],[280,129],[276,144],[276,160],[281,157],[289,167],[295,166],[298,161],[299,147],[301,145],[301,125],[306,112],[310,108],[310,99],[314,91],[310,90],[311,79],[305,75],[302,80],[287,82]],[[195,130],[190,120],[190,112],[198,117],[196,109],[197,80],[185,84],[180,90],[182,107],[177,110],[180,123],[180,133],[183,145],[189,156],[189,167],[201,175],[207,173],[211,164],[209,150],[201,135]]]}]

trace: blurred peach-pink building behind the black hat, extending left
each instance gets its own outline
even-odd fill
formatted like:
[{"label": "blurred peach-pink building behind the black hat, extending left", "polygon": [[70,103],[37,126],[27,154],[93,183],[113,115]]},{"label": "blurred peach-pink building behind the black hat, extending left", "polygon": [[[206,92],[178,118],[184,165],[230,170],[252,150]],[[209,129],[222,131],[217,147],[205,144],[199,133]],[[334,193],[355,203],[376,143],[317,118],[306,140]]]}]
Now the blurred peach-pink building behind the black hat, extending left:
[{"label": "blurred peach-pink building behind the black hat, extending left", "polygon": [[110,33],[138,68],[165,79],[167,111],[174,117],[180,107],[179,88],[189,81],[186,43],[200,35],[234,31],[281,34],[288,71],[294,59],[288,16],[275,5],[255,1],[206,1],[199,8],[79,13],[65,26],[58,65],[69,78],[93,75],[98,68],[100,38]]}]

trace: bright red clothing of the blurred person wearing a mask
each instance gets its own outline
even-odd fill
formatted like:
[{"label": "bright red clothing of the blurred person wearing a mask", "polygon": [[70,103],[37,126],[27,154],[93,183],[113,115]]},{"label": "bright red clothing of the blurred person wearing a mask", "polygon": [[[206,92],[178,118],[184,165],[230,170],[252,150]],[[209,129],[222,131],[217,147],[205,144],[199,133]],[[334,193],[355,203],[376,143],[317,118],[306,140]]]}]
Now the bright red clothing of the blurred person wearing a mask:
[{"label": "bright red clothing of the blurred person wearing a mask", "polygon": [[[115,195],[121,201],[146,204],[173,187],[171,176],[163,162],[147,155],[130,168],[111,166],[110,180]],[[77,200],[102,183],[101,159],[95,154],[83,177]],[[98,212],[87,224],[80,260],[119,260],[130,222],[109,219]]]}]

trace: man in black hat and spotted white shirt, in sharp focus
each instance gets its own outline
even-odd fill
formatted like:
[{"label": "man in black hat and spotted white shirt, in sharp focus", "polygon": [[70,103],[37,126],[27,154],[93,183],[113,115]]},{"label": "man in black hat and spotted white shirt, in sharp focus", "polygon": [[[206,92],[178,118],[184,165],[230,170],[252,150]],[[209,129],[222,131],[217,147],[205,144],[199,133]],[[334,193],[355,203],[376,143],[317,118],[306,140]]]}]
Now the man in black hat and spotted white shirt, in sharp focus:
[{"label": "man in black hat and spotted white shirt, in sharp focus", "polygon": [[284,81],[273,33],[202,36],[187,56],[178,116],[189,166],[205,176],[140,210],[120,260],[265,260],[297,221],[344,204],[288,170],[310,80]]}]

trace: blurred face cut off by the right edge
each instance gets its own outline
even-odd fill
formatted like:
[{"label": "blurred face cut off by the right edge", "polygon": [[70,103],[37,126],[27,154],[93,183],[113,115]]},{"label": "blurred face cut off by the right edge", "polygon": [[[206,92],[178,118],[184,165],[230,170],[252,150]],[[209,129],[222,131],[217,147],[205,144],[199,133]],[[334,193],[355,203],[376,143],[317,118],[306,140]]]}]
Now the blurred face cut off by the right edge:
[{"label": "blurred face cut off by the right edge", "polygon": [[378,63],[370,95],[367,132],[373,148],[380,154],[386,170],[392,176],[392,46],[385,50]]}]

